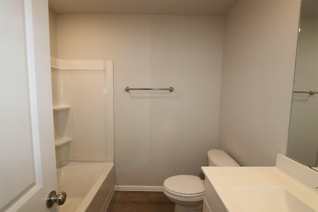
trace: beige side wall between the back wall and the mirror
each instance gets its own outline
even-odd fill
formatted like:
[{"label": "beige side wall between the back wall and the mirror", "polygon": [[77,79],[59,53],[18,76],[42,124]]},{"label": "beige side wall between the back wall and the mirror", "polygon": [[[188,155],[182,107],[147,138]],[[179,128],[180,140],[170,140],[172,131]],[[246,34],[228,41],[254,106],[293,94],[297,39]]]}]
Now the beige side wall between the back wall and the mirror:
[{"label": "beige side wall between the back wall and the mirror", "polygon": [[225,19],[219,147],[274,165],[288,137],[299,0],[239,0]]}]

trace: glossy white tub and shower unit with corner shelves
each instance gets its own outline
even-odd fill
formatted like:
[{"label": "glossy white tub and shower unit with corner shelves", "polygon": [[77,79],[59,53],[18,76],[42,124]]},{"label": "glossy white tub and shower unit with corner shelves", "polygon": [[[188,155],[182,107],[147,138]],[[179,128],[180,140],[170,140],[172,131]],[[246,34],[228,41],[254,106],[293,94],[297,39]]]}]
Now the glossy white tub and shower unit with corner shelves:
[{"label": "glossy white tub and shower unit with corner shelves", "polygon": [[51,57],[51,75],[60,212],[104,212],[115,185],[113,62]]}]

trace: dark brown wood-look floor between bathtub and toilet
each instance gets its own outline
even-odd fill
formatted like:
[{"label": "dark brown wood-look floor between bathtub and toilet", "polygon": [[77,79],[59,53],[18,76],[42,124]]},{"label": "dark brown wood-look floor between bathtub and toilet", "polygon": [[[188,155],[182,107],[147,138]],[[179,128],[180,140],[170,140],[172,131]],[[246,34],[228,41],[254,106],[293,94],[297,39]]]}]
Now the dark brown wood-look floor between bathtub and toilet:
[{"label": "dark brown wood-look floor between bathtub and toilet", "polygon": [[173,212],[174,204],[162,192],[115,191],[106,212]]}]

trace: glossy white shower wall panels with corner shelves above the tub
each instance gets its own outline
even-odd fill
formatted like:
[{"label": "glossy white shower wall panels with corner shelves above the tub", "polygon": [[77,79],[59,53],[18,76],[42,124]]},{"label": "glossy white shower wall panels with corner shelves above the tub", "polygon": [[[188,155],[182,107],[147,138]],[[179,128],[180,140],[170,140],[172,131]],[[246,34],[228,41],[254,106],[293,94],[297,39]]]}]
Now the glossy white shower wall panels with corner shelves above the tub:
[{"label": "glossy white shower wall panels with corner shelves above the tub", "polygon": [[51,64],[57,165],[113,161],[112,61]]}]

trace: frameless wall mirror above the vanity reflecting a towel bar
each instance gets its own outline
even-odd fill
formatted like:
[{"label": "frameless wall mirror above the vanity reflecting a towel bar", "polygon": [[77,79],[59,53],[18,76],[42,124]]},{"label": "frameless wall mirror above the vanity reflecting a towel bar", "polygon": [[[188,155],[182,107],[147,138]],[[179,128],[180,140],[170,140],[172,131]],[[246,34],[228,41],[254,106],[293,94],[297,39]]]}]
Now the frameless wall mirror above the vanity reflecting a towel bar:
[{"label": "frameless wall mirror above the vanity reflecting a towel bar", "polygon": [[318,171],[317,91],[318,0],[302,0],[287,156]]}]

